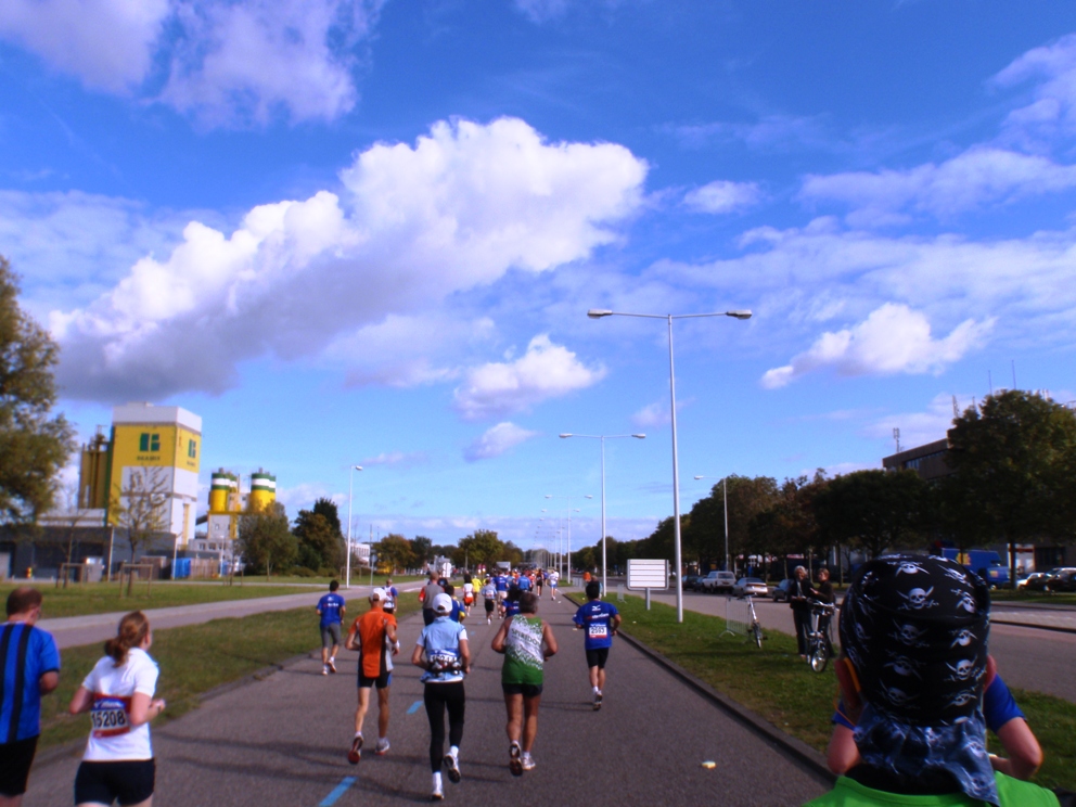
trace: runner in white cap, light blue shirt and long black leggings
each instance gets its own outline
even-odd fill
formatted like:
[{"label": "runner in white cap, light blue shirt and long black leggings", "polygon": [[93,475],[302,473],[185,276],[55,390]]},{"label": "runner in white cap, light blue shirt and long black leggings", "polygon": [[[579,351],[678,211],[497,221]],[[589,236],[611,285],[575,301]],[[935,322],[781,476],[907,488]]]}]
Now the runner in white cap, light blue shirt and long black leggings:
[{"label": "runner in white cap, light blue shirt and long black leggings", "polygon": [[[423,701],[430,720],[430,767],[433,771],[434,800],[445,797],[441,766],[448,768],[453,784],[460,781],[460,742],[463,740],[463,717],[466,694],[463,677],[471,671],[471,649],[467,631],[452,622],[452,598],[446,593],[434,598],[434,622],[422,629],[411,654],[411,664],[425,670]],[[423,657],[424,656],[424,657]],[[448,753],[445,754],[445,709],[448,709]],[[444,755],[444,756],[443,756]]]}]

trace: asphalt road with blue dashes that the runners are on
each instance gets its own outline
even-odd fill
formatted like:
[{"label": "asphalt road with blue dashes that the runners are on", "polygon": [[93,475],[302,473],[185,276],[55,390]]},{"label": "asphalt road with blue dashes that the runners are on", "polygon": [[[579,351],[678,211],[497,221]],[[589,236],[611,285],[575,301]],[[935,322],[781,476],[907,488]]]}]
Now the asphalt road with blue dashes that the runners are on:
[{"label": "asphalt road with blue dashes that the runners are on", "polygon": [[[803,804],[827,790],[780,748],[626,642],[613,648],[605,705],[590,707],[582,637],[571,629],[574,606],[542,601],[561,653],[547,663],[536,770],[508,769],[501,656],[489,649],[497,628],[472,619],[474,669],[467,678],[463,781],[445,778],[449,803],[482,805]],[[477,614],[476,614],[477,615]],[[421,617],[401,625],[404,651],[394,674],[390,752],[346,761],[355,703],[353,654],[341,674],[323,677],[304,661],[265,680],[221,694],[154,731],[155,807],[171,805],[397,805],[430,797],[428,726],[419,670],[406,663]],[[313,631],[313,628],[311,628]],[[163,670],[162,675],[167,675]],[[367,717],[368,747],[376,736]],[[714,769],[702,767],[716,763]],[[78,765],[63,757],[34,770],[26,807],[67,807]],[[333,796],[336,796],[333,799]]]}]

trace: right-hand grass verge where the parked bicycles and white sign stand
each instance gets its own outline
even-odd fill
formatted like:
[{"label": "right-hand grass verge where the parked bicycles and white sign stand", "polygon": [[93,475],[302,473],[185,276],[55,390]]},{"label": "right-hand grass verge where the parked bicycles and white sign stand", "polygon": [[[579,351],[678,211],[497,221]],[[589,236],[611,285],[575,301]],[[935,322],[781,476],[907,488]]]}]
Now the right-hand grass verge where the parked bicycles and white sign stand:
[{"label": "right-hand grass verge where the parked bicycles and white sign stand", "polygon": [[[799,659],[795,637],[767,630],[758,650],[743,637],[721,637],[725,620],[720,617],[684,611],[683,623],[677,624],[671,606],[655,602],[648,612],[644,601],[631,595],[613,602],[624,617],[626,633],[778,728],[825,752],[836,678],[832,665],[821,675],[811,672]],[[1050,787],[1076,789],[1076,704],[1037,692],[1012,692],[1046,754],[1036,781]]]}]

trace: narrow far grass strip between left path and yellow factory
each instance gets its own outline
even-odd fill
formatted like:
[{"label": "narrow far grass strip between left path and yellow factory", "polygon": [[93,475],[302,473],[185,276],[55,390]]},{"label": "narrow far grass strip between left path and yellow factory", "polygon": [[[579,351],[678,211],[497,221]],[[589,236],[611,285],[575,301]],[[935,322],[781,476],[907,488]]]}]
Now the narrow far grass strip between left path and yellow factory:
[{"label": "narrow far grass strip between left path and yellow factory", "polygon": [[[7,600],[9,592],[14,588],[16,588],[15,584],[0,584],[0,597]],[[36,584],[34,588],[44,597],[41,615],[46,619],[136,609],[163,609],[170,605],[192,605],[221,600],[249,600],[255,597],[282,597],[310,591],[309,588],[292,586],[258,586],[249,580],[242,586],[238,582],[229,586],[220,582],[191,585],[155,581],[149,589],[145,582],[136,582],[131,588],[130,597],[119,595],[118,582],[72,584],[67,588],[55,588],[52,584]]]}]

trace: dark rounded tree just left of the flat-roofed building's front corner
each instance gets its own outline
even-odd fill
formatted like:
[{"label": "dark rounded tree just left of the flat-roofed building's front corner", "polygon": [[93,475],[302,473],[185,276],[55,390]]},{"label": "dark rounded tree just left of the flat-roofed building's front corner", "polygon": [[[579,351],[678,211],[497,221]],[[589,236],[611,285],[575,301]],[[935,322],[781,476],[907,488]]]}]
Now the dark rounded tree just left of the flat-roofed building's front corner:
[{"label": "dark rounded tree just left of the flat-roofed building's front corner", "polygon": [[815,513],[828,540],[876,558],[921,533],[926,502],[927,484],[914,471],[856,471],[819,491]]}]

